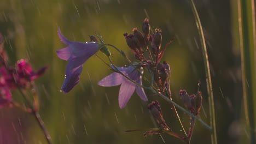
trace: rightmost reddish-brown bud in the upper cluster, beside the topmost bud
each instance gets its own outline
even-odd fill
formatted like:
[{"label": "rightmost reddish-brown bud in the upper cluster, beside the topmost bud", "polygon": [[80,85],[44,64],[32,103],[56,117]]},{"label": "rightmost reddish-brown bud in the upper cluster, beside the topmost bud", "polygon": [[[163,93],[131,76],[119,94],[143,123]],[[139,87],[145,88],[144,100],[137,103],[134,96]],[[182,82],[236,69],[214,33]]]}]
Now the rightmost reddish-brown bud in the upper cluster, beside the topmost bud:
[{"label": "rightmost reddish-brown bud in the upper cluster, beside the topmost bud", "polygon": [[155,29],[155,34],[153,35],[153,39],[151,41],[151,45],[152,45],[152,51],[155,54],[155,56],[158,56],[159,51],[160,51],[160,47],[162,44],[162,34],[161,34],[161,29],[160,28],[156,28]]}]

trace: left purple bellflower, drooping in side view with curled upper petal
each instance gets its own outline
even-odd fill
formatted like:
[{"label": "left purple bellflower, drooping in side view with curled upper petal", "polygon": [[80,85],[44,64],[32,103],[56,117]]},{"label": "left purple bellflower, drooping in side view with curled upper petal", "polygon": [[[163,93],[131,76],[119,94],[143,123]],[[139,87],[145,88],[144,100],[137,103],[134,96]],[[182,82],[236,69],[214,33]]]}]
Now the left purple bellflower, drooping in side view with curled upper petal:
[{"label": "left purple bellflower, drooping in side view with curled upper petal", "polygon": [[69,61],[66,68],[65,80],[61,87],[61,91],[65,94],[77,85],[79,77],[83,70],[83,64],[93,56],[100,48],[101,44],[96,42],[79,43],[66,39],[58,29],[60,40],[68,45],[67,47],[57,50],[57,56],[60,59]]}]

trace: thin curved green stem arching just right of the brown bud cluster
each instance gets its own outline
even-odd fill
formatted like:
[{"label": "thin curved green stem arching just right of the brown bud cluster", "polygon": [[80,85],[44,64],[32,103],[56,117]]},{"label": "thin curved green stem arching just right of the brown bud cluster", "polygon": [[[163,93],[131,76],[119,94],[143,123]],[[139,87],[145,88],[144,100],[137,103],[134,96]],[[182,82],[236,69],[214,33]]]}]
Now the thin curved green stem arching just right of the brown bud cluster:
[{"label": "thin curved green stem arching just right of the brown bud cluster", "polygon": [[197,30],[198,30],[199,36],[200,36],[200,42],[201,42],[202,54],[203,54],[203,63],[205,64],[207,92],[208,92],[208,96],[210,97],[209,98],[210,125],[212,128],[211,139],[212,139],[212,143],[218,143],[217,142],[217,133],[216,133],[214,99],[213,99],[213,92],[212,92],[212,79],[211,79],[210,65],[209,65],[209,61],[208,61],[208,53],[207,53],[207,48],[206,48],[206,43],[205,43],[205,36],[203,35],[201,21],[200,21],[199,15],[197,13],[194,1],[190,0],[190,3],[191,3],[191,8],[192,8],[192,11],[193,11],[193,14],[195,17]]}]

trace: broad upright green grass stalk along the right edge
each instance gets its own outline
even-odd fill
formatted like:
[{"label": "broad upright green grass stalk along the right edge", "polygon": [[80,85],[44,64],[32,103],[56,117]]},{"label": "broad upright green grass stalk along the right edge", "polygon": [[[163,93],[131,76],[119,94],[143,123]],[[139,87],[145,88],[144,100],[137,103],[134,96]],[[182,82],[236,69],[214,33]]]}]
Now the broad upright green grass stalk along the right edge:
[{"label": "broad upright green grass stalk along the right edge", "polygon": [[254,0],[237,0],[243,101],[250,143],[256,143],[256,29]]}]

